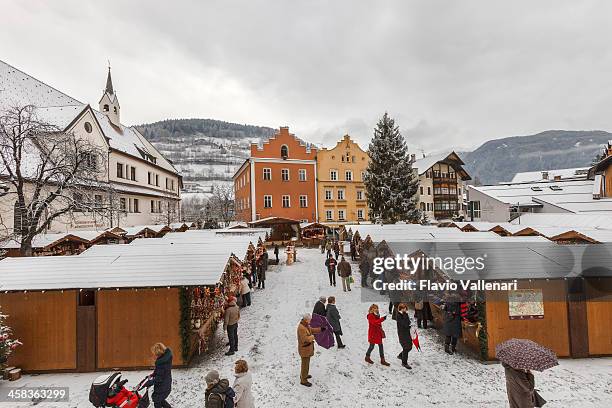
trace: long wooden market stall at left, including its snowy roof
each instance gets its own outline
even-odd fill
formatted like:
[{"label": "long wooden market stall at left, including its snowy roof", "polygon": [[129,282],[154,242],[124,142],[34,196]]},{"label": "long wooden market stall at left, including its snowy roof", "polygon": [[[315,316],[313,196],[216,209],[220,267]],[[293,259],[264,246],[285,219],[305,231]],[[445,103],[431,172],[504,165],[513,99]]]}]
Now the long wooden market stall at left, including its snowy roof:
[{"label": "long wooden market stall at left, including its snowy roof", "polygon": [[23,342],[9,364],[26,372],[151,367],[150,346],[161,341],[176,366],[187,365],[207,349],[237,290],[250,239],[137,240],[148,243],[0,261],[0,308]]}]

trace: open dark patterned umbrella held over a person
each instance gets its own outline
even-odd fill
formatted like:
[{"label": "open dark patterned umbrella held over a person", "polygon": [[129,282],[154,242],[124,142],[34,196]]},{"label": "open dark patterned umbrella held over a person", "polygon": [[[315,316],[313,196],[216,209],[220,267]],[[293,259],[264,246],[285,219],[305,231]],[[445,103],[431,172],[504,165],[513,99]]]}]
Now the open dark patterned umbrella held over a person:
[{"label": "open dark patterned umbrella held over a person", "polygon": [[518,370],[544,371],[559,365],[554,351],[527,339],[510,339],[498,344],[495,357]]}]

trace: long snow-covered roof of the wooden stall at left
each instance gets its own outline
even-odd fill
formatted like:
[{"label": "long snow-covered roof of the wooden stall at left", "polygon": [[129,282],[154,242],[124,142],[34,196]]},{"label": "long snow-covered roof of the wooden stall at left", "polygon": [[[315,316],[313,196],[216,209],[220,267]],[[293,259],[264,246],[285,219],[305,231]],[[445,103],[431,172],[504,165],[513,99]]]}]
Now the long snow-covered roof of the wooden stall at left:
[{"label": "long snow-covered roof of the wooden stall at left", "polygon": [[242,258],[253,240],[189,232],[167,235],[194,238],[182,242],[140,239],[78,256],[7,258],[0,261],[0,291],[214,285],[230,256]]}]

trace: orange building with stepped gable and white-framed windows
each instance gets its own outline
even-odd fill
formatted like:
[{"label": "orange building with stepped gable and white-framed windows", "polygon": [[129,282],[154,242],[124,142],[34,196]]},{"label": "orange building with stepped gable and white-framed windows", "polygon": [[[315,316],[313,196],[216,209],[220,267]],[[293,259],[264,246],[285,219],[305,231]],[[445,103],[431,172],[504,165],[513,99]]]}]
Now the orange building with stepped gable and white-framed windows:
[{"label": "orange building with stepped gable and white-framed windows", "polygon": [[317,149],[289,133],[288,127],[261,145],[234,174],[238,221],[284,217],[317,220]]}]

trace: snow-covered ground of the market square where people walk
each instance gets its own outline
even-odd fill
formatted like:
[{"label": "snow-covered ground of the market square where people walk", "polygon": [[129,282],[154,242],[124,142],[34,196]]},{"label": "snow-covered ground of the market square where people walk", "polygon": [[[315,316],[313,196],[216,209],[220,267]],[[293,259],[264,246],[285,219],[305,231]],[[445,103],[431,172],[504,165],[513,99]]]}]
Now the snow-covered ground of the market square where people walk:
[{"label": "snow-covered ground of the market square where people walk", "polygon": [[[239,325],[239,353],[226,357],[225,337],[219,329],[212,350],[192,368],[173,371],[174,407],[204,406],[204,375],[212,368],[233,381],[233,362],[244,358],[254,376],[253,392],[258,407],[504,407],[503,369],[499,364],[482,364],[463,353],[449,356],[442,350],[434,329],[421,330],[422,352],[412,351],[406,370],[396,359],[400,351],[395,324],[384,323],[385,351],[391,367],[377,359],[370,366],[363,361],[367,348],[368,302],[362,301],[357,285],[352,292],[329,286],[322,268],[323,255],[302,249],[292,266],[272,266],[267,288],[254,294],[254,304],[242,312]],[[358,277],[356,277],[358,280]],[[359,283],[359,282],[357,282]],[[312,388],[299,384],[299,357],[296,328],[299,315],[312,311],[320,295],[336,296],[342,315],[343,350],[318,348],[311,361]],[[386,309],[383,304],[381,309]],[[377,350],[372,354],[377,357]],[[49,374],[25,376],[10,386],[70,386],[69,403],[10,404],[13,406],[87,407],[89,384],[98,375]],[[128,372],[135,384],[146,372]],[[562,360],[558,367],[536,373],[536,388],[548,400],[547,407],[612,406],[612,358]],[[8,403],[0,403],[9,406]]]}]

